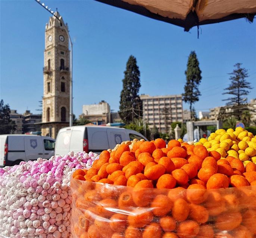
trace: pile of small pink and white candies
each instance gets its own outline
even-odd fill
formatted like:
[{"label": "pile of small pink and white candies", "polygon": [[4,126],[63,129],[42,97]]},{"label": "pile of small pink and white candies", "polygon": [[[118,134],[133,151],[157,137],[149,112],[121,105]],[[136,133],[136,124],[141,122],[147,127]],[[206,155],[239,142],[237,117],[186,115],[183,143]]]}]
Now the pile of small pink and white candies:
[{"label": "pile of small pink and white candies", "polygon": [[0,168],[0,237],[70,237],[70,177],[98,155],[70,152]]}]

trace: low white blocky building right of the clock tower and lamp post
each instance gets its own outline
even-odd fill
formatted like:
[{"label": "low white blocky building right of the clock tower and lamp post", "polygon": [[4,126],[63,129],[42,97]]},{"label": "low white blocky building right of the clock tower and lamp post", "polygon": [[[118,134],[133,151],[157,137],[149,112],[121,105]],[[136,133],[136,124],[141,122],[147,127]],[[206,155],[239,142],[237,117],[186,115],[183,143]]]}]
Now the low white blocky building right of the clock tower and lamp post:
[{"label": "low white blocky building right of the clock tower and lamp post", "polygon": [[83,105],[83,118],[90,120],[94,125],[103,125],[110,122],[110,106],[102,100],[99,104]]}]

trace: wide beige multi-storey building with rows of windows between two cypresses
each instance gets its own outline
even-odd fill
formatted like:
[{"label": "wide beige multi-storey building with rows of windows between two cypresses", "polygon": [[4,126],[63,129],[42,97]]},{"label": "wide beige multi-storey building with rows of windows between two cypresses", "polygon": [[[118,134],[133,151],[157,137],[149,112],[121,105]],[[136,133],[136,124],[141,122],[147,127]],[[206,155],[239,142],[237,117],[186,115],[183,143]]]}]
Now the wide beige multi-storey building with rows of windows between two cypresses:
[{"label": "wide beige multi-storey building with rows of windows between two cypresses", "polygon": [[182,96],[141,95],[143,102],[143,119],[149,128],[157,127],[159,132],[168,133],[172,122],[183,122]]}]

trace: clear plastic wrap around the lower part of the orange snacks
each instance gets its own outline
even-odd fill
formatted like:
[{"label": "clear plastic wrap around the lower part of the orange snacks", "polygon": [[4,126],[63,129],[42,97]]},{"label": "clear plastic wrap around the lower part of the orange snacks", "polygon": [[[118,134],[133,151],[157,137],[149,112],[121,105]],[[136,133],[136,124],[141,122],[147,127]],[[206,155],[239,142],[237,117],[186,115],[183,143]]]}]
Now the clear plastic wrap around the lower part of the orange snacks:
[{"label": "clear plastic wrap around the lower part of the orange snacks", "polygon": [[72,238],[253,238],[256,187],[135,189],[71,179]]}]

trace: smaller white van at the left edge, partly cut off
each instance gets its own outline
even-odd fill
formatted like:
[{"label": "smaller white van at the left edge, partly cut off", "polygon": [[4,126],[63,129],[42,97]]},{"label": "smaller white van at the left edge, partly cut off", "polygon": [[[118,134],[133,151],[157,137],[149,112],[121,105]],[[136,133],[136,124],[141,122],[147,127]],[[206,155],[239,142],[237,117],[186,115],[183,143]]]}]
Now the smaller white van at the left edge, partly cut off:
[{"label": "smaller white van at the left edge, partly cut off", "polygon": [[38,135],[0,135],[0,167],[21,161],[49,159],[54,155],[55,140]]}]

